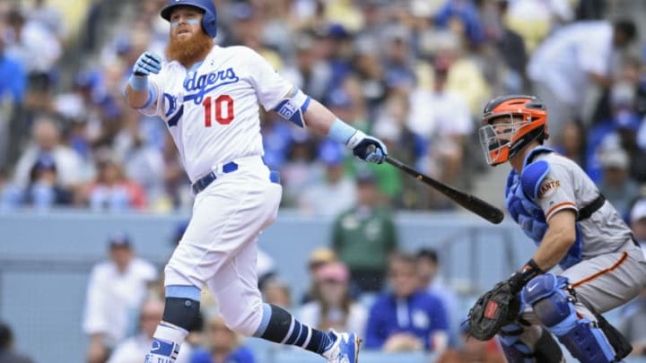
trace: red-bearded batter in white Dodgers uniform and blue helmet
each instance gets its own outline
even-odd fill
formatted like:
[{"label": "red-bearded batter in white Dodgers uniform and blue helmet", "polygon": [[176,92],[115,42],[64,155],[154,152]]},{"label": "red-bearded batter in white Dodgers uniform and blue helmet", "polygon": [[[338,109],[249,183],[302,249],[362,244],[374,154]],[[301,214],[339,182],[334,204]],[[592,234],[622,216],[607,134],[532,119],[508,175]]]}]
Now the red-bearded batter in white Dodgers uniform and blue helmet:
[{"label": "red-bearded batter in white Dodgers uniform and blue helmet", "polygon": [[261,158],[258,105],[345,143],[362,160],[381,163],[386,147],[286,82],[252,49],[216,46],[212,0],[169,0],[161,14],[170,22],[168,62],[140,56],[127,102],[166,122],[196,200],[165,268],[166,306],[145,362],[175,361],[206,284],[231,330],[354,363],[355,333],[320,332],[261,300],[257,238],[275,220],[282,189]]}]

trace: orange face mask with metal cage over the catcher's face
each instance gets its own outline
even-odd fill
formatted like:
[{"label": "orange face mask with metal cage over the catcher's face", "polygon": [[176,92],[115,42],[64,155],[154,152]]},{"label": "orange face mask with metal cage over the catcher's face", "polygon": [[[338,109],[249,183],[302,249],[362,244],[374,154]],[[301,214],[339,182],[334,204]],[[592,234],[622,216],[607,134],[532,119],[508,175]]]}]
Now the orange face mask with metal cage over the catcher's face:
[{"label": "orange face mask with metal cage over the catcher's face", "polygon": [[483,120],[478,130],[480,146],[489,165],[498,165],[511,158],[511,148],[519,135],[527,134],[531,117],[524,114],[496,114]]}]

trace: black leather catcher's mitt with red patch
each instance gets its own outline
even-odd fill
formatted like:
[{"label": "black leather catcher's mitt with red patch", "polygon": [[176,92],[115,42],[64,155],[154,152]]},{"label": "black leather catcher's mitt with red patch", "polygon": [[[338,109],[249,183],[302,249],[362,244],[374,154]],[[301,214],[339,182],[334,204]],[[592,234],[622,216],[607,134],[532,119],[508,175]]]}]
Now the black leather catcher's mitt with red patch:
[{"label": "black leather catcher's mitt with red patch", "polygon": [[488,341],[502,326],[513,323],[520,313],[520,299],[508,281],[498,282],[478,298],[468,314],[468,331],[478,341]]}]

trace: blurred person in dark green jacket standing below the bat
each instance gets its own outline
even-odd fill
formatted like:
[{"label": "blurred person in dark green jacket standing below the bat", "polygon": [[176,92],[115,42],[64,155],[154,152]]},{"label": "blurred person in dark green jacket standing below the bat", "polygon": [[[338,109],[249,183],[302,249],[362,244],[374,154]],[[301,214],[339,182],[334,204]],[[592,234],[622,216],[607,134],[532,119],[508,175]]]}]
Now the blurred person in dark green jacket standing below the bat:
[{"label": "blurred person in dark green jacket standing below the bat", "polygon": [[368,169],[357,175],[357,204],[341,213],[332,229],[332,246],[350,269],[361,292],[381,290],[388,254],[397,249],[397,231],[388,209],[378,205],[379,192]]}]

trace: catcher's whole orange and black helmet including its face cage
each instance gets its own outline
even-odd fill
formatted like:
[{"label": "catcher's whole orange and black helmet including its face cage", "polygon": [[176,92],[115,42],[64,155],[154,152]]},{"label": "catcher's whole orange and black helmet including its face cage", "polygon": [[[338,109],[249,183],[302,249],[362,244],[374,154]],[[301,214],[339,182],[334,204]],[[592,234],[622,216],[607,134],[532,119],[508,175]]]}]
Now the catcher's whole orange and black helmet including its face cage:
[{"label": "catcher's whole orange and black helmet including its face cage", "polygon": [[545,103],[534,96],[507,95],[489,101],[478,130],[489,165],[513,158],[529,143],[547,139]]}]

